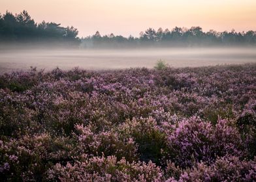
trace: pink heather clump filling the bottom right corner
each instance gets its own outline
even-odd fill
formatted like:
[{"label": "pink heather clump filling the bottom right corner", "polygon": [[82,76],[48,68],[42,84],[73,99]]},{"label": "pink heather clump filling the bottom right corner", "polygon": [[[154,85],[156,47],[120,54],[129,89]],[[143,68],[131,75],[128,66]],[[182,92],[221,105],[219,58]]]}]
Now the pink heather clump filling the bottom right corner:
[{"label": "pink heather clump filling the bottom right corner", "polygon": [[240,161],[238,157],[222,157],[208,166],[199,163],[184,170],[177,181],[255,181],[256,161]]}]

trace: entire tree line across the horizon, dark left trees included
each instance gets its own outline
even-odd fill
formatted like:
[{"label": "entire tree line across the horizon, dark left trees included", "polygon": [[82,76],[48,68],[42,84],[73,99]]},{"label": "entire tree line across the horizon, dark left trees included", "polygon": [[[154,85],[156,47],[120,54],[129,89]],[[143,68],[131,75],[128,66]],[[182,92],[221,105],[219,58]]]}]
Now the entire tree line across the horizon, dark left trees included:
[{"label": "entire tree line across the horizon, dark left trees included", "polygon": [[247,32],[203,32],[201,27],[190,29],[174,27],[149,28],[140,32],[139,37],[103,35],[97,31],[92,36],[78,37],[74,27],[42,21],[35,23],[27,11],[20,14],[0,14],[0,42],[71,42],[80,47],[136,47],[136,46],[204,46],[204,45],[256,45],[256,31]]}]

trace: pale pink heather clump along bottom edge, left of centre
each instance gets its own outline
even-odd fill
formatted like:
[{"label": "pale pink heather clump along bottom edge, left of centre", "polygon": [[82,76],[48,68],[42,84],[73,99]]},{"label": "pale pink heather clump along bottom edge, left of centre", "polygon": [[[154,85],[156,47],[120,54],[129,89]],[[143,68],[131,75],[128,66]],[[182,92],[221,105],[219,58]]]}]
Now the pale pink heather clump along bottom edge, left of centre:
[{"label": "pale pink heather clump along bottom edge, left of centre", "polygon": [[82,161],[48,170],[48,180],[56,181],[163,181],[163,172],[152,162],[118,161],[114,156],[84,156]]}]

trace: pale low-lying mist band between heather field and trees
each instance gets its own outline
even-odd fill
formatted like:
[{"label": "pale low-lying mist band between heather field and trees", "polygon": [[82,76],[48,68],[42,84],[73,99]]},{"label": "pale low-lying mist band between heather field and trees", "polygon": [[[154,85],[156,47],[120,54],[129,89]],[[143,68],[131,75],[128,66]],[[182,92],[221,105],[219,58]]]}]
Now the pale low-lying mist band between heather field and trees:
[{"label": "pale low-lying mist band between heather field and trees", "polygon": [[5,49],[0,50],[0,73],[79,67],[87,70],[153,68],[157,60],[173,67],[213,66],[256,62],[255,47],[182,47],[150,49]]}]

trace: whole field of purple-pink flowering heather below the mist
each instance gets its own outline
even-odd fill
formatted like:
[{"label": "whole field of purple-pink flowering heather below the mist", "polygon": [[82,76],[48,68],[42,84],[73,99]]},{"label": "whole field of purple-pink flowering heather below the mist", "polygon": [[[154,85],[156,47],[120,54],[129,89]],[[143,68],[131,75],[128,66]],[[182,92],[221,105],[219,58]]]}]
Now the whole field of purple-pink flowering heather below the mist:
[{"label": "whole field of purple-pink flowering heather below the mist", "polygon": [[256,64],[0,75],[1,181],[255,181]]}]

